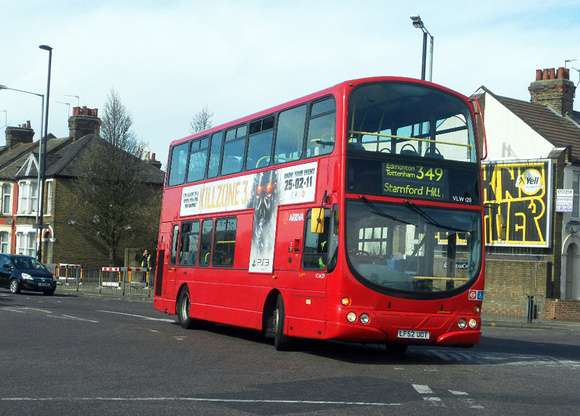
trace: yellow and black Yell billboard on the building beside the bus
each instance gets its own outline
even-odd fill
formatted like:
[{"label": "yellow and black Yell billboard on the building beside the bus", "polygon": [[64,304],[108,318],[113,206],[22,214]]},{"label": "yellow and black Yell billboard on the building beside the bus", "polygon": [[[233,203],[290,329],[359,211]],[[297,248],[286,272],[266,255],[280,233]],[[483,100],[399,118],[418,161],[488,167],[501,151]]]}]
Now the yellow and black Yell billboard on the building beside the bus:
[{"label": "yellow and black Yell billboard on the building beside the bus", "polygon": [[550,160],[484,162],[482,179],[486,245],[550,247]]}]

